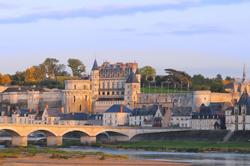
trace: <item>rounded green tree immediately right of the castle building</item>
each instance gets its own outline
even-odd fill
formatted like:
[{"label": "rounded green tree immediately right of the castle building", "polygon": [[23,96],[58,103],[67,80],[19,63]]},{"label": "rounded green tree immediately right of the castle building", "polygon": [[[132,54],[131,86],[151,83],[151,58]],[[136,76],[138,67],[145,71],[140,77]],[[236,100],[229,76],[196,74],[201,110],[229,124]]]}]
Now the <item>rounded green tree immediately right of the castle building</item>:
[{"label": "rounded green tree immediately right of the castle building", "polygon": [[140,69],[142,83],[148,81],[154,81],[156,77],[156,71],[152,66],[144,66]]}]

